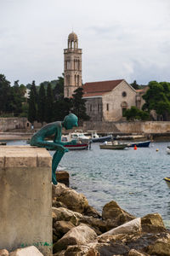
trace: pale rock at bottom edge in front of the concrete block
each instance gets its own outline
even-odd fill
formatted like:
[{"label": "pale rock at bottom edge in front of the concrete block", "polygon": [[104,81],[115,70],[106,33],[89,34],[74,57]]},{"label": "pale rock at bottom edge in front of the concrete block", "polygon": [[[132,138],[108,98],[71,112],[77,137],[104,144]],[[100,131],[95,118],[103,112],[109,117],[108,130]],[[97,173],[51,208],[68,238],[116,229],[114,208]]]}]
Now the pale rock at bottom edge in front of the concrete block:
[{"label": "pale rock at bottom edge in front of the concrete block", "polygon": [[42,253],[37,249],[37,247],[25,247],[16,249],[14,252],[9,253],[9,256],[43,256]]}]

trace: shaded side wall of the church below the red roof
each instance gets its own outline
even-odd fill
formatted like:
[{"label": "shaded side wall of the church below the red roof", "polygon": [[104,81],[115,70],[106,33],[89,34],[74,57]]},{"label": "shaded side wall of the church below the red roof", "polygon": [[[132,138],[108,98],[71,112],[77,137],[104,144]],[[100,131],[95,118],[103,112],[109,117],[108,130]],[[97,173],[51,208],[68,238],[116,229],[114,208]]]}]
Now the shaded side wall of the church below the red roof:
[{"label": "shaded side wall of the church below the red roof", "polygon": [[102,107],[102,98],[88,98],[86,99],[86,108],[87,114],[90,117],[91,121],[102,121],[103,119],[103,107]]}]

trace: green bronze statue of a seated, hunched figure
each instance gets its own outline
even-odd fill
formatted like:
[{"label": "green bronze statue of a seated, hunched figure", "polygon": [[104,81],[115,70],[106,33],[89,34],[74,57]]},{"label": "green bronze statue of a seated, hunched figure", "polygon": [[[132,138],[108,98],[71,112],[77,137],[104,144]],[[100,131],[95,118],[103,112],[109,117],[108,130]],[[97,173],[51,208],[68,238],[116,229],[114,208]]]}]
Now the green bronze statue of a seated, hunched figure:
[{"label": "green bronze statue of a seated, hunched figure", "polygon": [[[49,123],[44,125],[39,131],[37,131],[31,137],[31,146],[37,146],[38,148],[47,148],[48,150],[56,150],[52,160],[52,182],[56,185],[57,180],[55,176],[55,171],[59,165],[59,161],[69,150],[65,148],[65,145],[76,144],[77,140],[72,140],[71,142],[63,143],[61,142],[61,131],[62,127],[66,130],[70,130],[73,127],[77,127],[78,124],[77,116],[74,113],[69,113],[65,116],[63,121],[56,121],[54,123]],[[54,141],[48,142],[45,140],[47,137],[54,135]]]}]

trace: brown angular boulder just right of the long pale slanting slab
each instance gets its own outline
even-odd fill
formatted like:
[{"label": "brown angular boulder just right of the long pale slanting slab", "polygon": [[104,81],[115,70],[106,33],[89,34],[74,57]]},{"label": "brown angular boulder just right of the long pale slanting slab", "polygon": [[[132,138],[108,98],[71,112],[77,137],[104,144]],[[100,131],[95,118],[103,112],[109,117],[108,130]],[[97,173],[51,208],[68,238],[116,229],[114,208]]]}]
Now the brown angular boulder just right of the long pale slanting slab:
[{"label": "brown angular boulder just right of the long pale slanting slab", "polygon": [[141,218],[143,232],[161,232],[165,231],[165,225],[159,213],[151,213]]}]

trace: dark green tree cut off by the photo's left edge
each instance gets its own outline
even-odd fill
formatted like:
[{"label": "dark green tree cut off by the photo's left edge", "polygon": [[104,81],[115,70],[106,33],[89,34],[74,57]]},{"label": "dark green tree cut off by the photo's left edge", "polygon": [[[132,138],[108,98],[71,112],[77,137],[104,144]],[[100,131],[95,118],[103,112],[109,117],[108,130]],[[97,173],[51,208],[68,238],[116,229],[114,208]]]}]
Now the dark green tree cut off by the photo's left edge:
[{"label": "dark green tree cut off by the photo's left edge", "polygon": [[11,112],[10,82],[3,74],[0,74],[0,113]]}]

